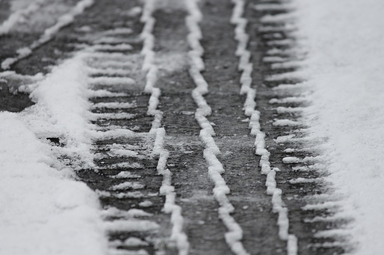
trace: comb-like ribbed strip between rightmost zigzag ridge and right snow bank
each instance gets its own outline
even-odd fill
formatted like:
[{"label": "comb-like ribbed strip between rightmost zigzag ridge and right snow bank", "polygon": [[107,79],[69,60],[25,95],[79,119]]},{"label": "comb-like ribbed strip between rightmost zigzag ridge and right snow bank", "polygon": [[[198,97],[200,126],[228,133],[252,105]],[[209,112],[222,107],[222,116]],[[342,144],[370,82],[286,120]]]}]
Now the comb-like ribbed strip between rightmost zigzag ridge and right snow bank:
[{"label": "comb-like ribbed strip between rightmost zigzag ridge and right snow bank", "polygon": [[300,254],[342,254],[348,239],[342,229],[349,219],[333,217],[339,198],[321,178],[326,175],[320,156],[322,141],[306,134],[300,118],[310,103],[310,86],[300,72],[305,52],[296,40],[293,7],[276,1],[256,4],[254,10],[257,20],[252,11],[247,17],[255,24],[252,37],[260,49],[254,51],[262,51],[266,85],[259,87],[257,101],[264,109],[260,110],[262,119],[273,119],[271,124],[261,121],[261,128],[267,134],[270,162],[281,170],[276,182],[290,208],[290,232],[298,237]]}]

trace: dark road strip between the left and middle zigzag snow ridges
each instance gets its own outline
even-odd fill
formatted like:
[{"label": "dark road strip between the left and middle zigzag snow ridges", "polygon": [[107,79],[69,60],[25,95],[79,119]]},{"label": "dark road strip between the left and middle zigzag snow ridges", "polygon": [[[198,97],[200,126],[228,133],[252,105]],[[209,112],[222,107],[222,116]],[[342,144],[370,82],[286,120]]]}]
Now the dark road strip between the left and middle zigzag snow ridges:
[{"label": "dark road strip between the left and middle zigzag snow ridges", "polygon": [[176,202],[183,209],[184,229],[190,241],[189,254],[227,254],[225,227],[217,217],[217,201],[211,195],[212,183],[206,177],[207,165],[196,110],[191,97],[195,85],[188,75],[189,31],[185,26],[184,2],[154,13],[158,20],[154,34],[159,66],[157,86],[162,90],[160,109],[167,129],[165,146],[169,150]]}]

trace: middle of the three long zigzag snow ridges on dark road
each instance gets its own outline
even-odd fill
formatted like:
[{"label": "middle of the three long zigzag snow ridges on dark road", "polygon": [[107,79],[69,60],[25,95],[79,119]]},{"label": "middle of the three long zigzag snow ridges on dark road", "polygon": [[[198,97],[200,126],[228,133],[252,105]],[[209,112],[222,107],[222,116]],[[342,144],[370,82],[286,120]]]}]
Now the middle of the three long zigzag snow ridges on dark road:
[{"label": "middle of the three long zigzag snow ridges on dark road", "polygon": [[189,12],[189,15],[185,19],[189,29],[187,41],[191,47],[191,50],[188,52],[190,57],[189,74],[196,84],[196,88],[192,91],[192,97],[198,106],[195,113],[195,119],[199,122],[200,127],[202,128],[200,130],[200,138],[205,144],[204,158],[209,164],[208,174],[215,184],[213,193],[216,201],[220,204],[218,214],[228,229],[228,232],[225,233],[225,242],[233,253],[237,255],[249,255],[241,242],[243,238],[243,230],[235,219],[230,216],[230,213],[232,213],[235,208],[227,198],[230,189],[221,176],[221,173],[224,172],[224,168],[216,157],[216,155],[220,154],[220,150],[212,138],[212,136],[215,135],[215,132],[212,125],[207,118],[205,118],[205,116],[211,114],[211,108],[203,96],[208,93],[208,84],[200,74],[200,71],[204,70],[204,62],[201,58],[204,49],[199,41],[202,39],[202,33],[199,27],[199,22],[202,20],[202,13],[197,5],[198,1],[199,0],[185,0],[187,11]]}]

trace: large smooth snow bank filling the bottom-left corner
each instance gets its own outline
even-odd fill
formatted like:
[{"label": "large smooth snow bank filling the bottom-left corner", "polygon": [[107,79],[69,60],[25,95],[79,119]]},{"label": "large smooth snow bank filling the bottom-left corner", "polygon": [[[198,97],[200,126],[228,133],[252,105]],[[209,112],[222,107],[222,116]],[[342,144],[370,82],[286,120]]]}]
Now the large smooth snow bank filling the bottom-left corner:
[{"label": "large smooth snow bank filling the bottom-left corner", "polygon": [[98,196],[58,171],[51,146],[0,113],[0,254],[105,254]]}]

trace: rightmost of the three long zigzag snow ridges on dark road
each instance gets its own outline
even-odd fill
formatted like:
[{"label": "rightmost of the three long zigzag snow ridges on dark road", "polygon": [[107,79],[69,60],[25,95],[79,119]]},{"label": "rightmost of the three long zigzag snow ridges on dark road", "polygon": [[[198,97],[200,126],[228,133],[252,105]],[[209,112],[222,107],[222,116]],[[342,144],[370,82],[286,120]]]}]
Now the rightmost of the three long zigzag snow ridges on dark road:
[{"label": "rightmost of the three long zigzag snow ridges on dark road", "polygon": [[279,226],[279,237],[281,240],[287,241],[287,254],[296,255],[298,249],[297,237],[293,234],[288,233],[288,209],[284,207],[283,201],[281,199],[281,189],[276,188],[276,172],[280,170],[278,168],[271,169],[270,167],[270,152],[265,149],[265,133],[260,131],[260,112],[255,110],[256,90],[254,88],[251,88],[251,73],[253,66],[252,63],[249,62],[251,56],[251,53],[247,50],[249,36],[245,32],[245,28],[247,26],[247,19],[242,18],[245,1],[232,0],[232,3],[234,3],[235,6],[233,7],[230,22],[236,25],[235,39],[238,41],[238,46],[235,54],[236,56],[240,57],[238,69],[243,71],[240,78],[240,94],[247,95],[243,110],[245,112],[245,115],[251,116],[249,127],[251,129],[251,134],[256,135],[256,154],[262,156],[260,159],[260,166],[262,167],[262,174],[267,175],[265,183],[267,187],[267,194],[272,195],[273,212],[278,213],[277,224]]}]

